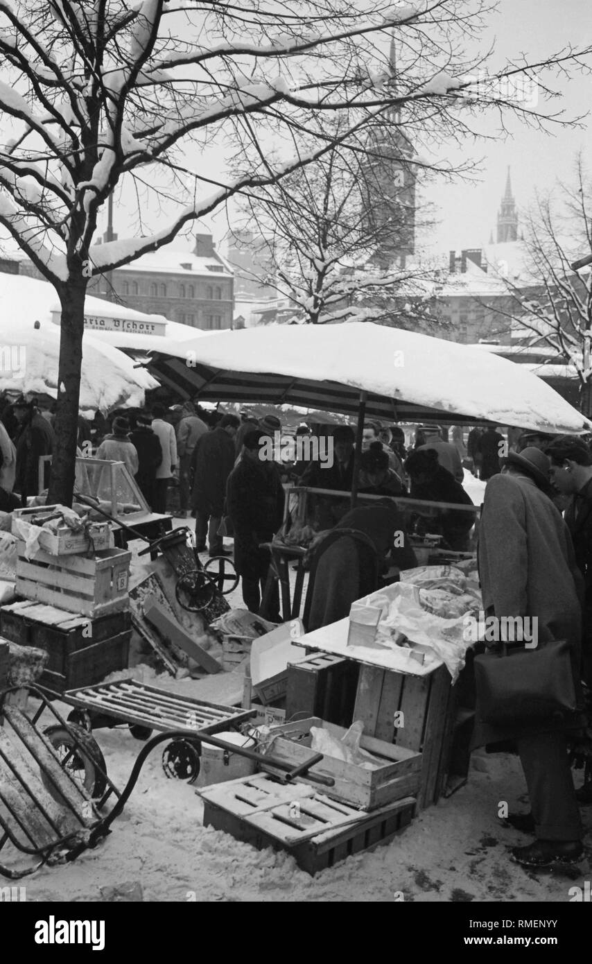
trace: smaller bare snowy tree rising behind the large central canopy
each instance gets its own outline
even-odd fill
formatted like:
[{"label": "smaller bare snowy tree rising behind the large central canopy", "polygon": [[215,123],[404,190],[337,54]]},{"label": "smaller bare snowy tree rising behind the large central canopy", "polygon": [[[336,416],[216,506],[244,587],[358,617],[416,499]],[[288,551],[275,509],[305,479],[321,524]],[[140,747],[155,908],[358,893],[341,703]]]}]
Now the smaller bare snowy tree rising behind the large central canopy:
[{"label": "smaller bare snowy tree rising behind the large central canopy", "polygon": [[408,268],[404,254],[413,252],[421,165],[399,155],[397,170],[407,186],[403,180],[397,186],[384,177],[385,159],[374,147],[373,140],[350,138],[347,147],[331,147],[313,164],[243,200],[240,226],[255,229],[257,258],[266,266],[264,277],[259,267],[252,278],[287,301],[287,320],[372,320],[401,327],[415,321],[417,327],[431,322],[434,329],[436,319],[422,297],[431,273]]}]

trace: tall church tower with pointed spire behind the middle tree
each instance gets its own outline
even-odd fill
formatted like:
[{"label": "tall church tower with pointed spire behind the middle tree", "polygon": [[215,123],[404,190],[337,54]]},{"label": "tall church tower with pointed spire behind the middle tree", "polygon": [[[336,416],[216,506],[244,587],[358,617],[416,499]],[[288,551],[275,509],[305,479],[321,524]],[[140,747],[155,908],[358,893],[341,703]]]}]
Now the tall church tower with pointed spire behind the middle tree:
[{"label": "tall church tower with pointed spire behind the middle tree", "polygon": [[[394,37],[389,62],[396,96]],[[364,228],[374,232],[371,261],[383,269],[393,264],[404,267],[407,256],[415,251],[416,171],[409,163],[414,154],[415,148],[401,128],[401,108],[393,104],[368,138],[363,185]]]}]

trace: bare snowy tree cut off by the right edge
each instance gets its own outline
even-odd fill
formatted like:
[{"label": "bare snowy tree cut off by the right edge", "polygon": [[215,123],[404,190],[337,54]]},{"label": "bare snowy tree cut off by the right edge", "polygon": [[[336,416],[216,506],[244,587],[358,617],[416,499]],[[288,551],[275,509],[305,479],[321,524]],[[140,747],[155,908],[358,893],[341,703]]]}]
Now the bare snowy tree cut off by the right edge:
[{"label": "bare snowy tree cut off by the right edge", "polygon": [[577,372],[580,411],[592,415],[592,273],[571,265],[592,256],[592,181],[581,155],[571,182],[558,182],[537,196],[525,216],[525,274],[503,279],[508,297],[497,307],[530,335],[532,344],[552,348]]}]

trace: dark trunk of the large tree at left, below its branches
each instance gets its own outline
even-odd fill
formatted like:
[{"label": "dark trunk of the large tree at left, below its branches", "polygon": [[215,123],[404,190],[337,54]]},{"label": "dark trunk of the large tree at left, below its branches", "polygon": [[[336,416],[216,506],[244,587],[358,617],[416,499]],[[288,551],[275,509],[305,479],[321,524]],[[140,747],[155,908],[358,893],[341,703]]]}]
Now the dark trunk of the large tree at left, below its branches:
[{"label": "dark trunk of the large tree at left, below its branches", "polygon": [[71,507],[82,369],[82,335],[87,279],[71,278],[60,293],[62,331],[58,369],[58,408],[54,420],[56,448],[51,464],[48,504]]}]

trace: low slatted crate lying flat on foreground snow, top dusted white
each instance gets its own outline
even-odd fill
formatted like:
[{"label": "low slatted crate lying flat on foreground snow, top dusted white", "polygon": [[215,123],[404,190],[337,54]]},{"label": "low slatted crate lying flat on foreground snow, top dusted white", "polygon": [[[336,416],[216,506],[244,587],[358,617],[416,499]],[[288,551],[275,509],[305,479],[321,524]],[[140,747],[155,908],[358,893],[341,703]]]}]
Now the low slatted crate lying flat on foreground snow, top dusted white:
[{"label": "low slatted crate lying flat on foreground snow, top dusted white", "polygon": [[264,773],[198,792],[204,826],[259,850],[287,850],[312,875],[351,854],[387,844],[411,823],[416,805],[408,797],[365,814],[302,784],[275,783]]}]

